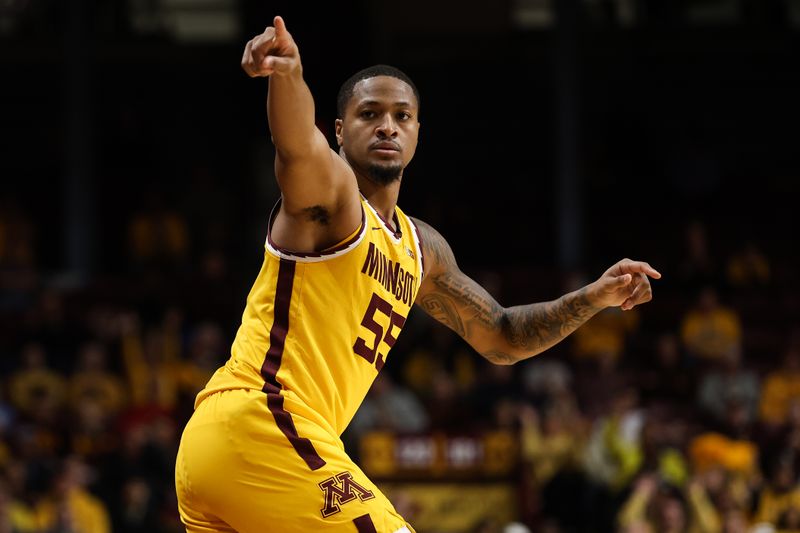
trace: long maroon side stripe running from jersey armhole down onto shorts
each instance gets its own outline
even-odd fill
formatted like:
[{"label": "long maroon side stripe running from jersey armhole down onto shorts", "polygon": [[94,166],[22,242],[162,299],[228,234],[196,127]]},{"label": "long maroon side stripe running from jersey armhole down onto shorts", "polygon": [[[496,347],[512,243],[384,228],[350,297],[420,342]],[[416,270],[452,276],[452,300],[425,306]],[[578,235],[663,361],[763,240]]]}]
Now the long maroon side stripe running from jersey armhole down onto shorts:
[{"label": "long maroon side stripe running from jersey armhole down onto shorts", "polygon": [[294,261],[281,259],[278,268],[274,317],[272,328],[269,330],[269,350],[267,350],[264,363],[261,365],[261,376],[264,378],[264,386],[261,390],[267,394],[267,407],[275,417],[275,423],[278,424],[280,430],[289,439],[289,443],[308,467],[311,470],[317,470],[325,466],[325,461],[319,456],[310,440],[297,434],[292,415],[283,408],[282,386],[278,381],[278,369],[283,358],[286,335],[289,333],[289,307],[292,300],[295,266]]}]

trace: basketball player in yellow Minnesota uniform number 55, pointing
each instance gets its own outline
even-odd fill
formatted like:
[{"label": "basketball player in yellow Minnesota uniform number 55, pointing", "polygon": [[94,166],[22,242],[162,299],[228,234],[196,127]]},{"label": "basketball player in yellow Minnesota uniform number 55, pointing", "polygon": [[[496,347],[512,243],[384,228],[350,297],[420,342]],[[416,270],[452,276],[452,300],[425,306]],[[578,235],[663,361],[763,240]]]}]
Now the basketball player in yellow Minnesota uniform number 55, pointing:
[{"label": "basketball player in yellow Minnesota uniform number 55, pointing", "polygon": [[376,66],[339,93],[332,151],[314,126],[284,21],[247,43],[269,77],[282,197],[231,357],[199,393],[176,466],[187,531],[411,532],[345,454],[339,435],[386,363],[411,306],[489,361],[512,364],[607,306],[651,299],[647,263],[623,259],[558,300],[503,308],[458,268],[447,241],[397,207],[419,132],[419,93]]}]

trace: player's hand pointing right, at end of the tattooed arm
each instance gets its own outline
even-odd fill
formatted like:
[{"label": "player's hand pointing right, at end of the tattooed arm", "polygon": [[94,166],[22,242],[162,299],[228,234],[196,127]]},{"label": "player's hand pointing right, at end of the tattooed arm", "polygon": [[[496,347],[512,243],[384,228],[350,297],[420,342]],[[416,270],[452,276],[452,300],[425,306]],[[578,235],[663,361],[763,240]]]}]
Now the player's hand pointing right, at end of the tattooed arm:
[{"label": "player's hand pointing right, at end of the tattooed arm", "polygon": [[601,307],[619,306],[623,311],[653,299],[650,279],[661,274],[644,261],[623,259],[589,286],[589,298]]}]

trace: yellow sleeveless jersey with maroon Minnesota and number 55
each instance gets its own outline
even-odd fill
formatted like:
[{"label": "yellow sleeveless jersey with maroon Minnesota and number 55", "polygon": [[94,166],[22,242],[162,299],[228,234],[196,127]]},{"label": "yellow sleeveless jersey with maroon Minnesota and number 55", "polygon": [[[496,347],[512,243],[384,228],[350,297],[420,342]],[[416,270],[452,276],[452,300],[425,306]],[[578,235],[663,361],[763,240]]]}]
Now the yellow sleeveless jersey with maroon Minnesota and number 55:
[{"label": "yellow sleeveless jersey with maroon Minnesota and number 55", "polygon": [[304,439],[292,416],[341,435],[386,363],[423,274],[414,223],[395,208],[395,233],[361,204],[361,227],[320,253],[281,249],[268,231],[231,357],[196,405],[217,391],[260,389],[284,434],[299,439],[295,448]]}]

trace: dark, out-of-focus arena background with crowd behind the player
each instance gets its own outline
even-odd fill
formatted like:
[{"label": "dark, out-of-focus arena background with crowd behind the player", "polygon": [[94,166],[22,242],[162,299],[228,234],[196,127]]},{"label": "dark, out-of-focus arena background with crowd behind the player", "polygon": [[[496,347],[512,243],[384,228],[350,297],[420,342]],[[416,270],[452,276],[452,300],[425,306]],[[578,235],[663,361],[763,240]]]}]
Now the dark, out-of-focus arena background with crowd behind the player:
[{"label": "dark, out-of-focus arena background with crowd behind the player", "polygon": [[[800,1],[0,1],[0,532],[180,531],[278,197],[272,16],[422,93],[400,205],[506,305],[664,275],[513,367],[420,310],[350,453],[420,533],[800,530]],[[332,140],[332,137],[331,137]]]}]

